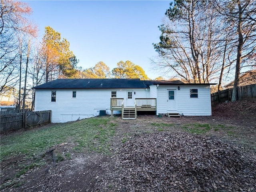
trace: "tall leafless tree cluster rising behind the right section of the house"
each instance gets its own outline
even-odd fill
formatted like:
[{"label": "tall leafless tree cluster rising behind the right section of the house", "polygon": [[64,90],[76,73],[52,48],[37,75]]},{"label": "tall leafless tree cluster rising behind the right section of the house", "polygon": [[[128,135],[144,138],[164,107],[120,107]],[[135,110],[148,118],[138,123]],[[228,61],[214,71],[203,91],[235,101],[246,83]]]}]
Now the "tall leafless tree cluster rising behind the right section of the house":
[{"label": "tall leafless tree cluster rising behind the right section of the house", "polygon": [[205,1],[179,1],[170,4],[168,20],[159,29],[158,67],[169,68],[186,82],[209,83],[221,70],[218,34],[220,22]]}]

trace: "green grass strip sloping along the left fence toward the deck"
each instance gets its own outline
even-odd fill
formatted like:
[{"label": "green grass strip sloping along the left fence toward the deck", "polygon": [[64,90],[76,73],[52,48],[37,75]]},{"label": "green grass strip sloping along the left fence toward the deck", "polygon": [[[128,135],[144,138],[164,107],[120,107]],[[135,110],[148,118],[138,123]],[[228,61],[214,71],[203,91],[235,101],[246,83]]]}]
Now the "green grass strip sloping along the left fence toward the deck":
[{"label": "green grass strip sloping along the left fence toward the deck", "polygon": [[1,160],[19,155],[30,157],[43,154],[48,148],[70,139],[78,143],[76,150],[107,152],[115,127],[110,118],[98,117],[1,136]]}]

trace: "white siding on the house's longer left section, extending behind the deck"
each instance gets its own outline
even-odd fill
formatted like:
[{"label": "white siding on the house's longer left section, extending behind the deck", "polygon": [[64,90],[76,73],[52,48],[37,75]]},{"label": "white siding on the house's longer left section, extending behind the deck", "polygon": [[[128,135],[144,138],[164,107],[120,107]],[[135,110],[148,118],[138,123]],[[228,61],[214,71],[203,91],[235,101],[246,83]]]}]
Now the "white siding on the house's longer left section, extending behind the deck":
[{"label": "white siding on the house's longer left section, extending behind the deck", "polygon": [[[35,111],[52,110],[52,122],[68,122],[98,116],[100,110],[111,114],[111,91],[116,91],[117,98],[124,98],[127,90],[108,89],[56,89],[56,102],[51,102],[52,90],[36,90]],[[72,92],[76,91],[76,98]],[[145,98],[145,89],[134,89],[134,98]],[[114,112],[120,113],[120,112]]]}]

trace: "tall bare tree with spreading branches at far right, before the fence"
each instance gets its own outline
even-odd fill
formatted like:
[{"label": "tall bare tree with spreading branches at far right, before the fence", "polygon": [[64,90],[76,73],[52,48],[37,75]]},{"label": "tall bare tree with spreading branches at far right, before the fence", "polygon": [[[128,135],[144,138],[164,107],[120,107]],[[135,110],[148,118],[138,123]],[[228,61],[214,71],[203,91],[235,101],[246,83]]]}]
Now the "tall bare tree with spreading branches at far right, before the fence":
[{"label": "tall bare tree with spreading branches at far right, before the fence", "polygon": [[[234,102],[238,100],[238,83],[241,67],[243,67],[245,62],[252,60],[252,56],[256,52],[256,1],[232,0],[227,2],[216,0],[212,4],[227,23],[236,29],[236,36],[231,39],[237,47],[232,93],[232,102]],[[250,65],[246,64],[245,66]]]}]

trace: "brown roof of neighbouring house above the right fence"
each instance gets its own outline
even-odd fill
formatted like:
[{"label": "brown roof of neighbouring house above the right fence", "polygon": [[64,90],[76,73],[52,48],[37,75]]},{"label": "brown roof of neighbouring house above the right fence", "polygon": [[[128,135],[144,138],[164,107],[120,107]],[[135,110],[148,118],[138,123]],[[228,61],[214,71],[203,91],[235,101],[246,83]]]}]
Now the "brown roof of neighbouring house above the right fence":
[{"label": "brown roof of neighbouring house above the right fence", "polygon": [[[240,80],[238,82],[238,86],[246,86],[256,84],[256,70],[247,71],[240,76]],[[226,84],[225,88],[233,88],[234,81]]]}]

